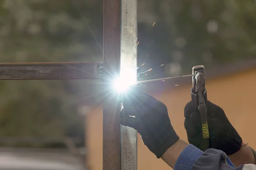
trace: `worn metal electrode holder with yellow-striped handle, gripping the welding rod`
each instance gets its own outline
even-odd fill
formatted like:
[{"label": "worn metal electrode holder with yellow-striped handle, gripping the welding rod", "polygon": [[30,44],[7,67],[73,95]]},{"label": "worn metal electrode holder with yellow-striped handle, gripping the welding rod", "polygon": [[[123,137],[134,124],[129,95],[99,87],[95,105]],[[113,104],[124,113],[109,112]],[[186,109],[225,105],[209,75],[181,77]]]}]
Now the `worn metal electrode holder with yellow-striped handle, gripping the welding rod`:
[{"label": "worn metal electrode holder with yellow-striped handle, gripping the welding rod", "polygon": [[[203,65],[192,68],[192,88],[191,99],[195,111],[199,111],[202,120],[202,133],[205,139],[209,139],[209,130],[207,122],[207,91],[205,88],[205,69]],[[209,141],[208,141],[209,147]],[[207,148],[208,148],[207,147]]]}]

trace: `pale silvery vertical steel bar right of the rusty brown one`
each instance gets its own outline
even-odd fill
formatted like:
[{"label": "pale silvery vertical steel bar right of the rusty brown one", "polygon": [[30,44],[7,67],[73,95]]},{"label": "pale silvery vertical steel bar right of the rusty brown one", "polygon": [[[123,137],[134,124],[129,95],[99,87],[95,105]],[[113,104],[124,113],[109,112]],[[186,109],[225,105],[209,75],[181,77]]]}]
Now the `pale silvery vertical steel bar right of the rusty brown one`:
[{"label": "pale silvery vertical steel bar right of the rusty brown one", "polygon": [[[120,77],[137,81],[137,0],[122,0]],[[121,170],[137,170],[137,131],[121,125]]]}]

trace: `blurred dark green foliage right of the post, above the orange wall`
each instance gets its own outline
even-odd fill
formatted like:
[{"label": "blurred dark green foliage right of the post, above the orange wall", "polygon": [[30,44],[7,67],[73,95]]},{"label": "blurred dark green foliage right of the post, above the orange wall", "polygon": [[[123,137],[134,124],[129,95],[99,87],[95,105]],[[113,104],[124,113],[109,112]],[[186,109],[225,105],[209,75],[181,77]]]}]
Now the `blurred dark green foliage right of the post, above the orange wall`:
[{"label": "blurred dark green foliage right of the post, above the orange wall", "polygon": [[[256,56],[254,0],[140,2],[138,15],[148,19],[140,17],[139,21],[139,57],[140,63],[151,61],[148,68],[169,62],[173,69],[166,69],[167,76],[189,74],[194,65],[202,64],[209,69]],[[152,71],[147,77],[153,74]]]}]

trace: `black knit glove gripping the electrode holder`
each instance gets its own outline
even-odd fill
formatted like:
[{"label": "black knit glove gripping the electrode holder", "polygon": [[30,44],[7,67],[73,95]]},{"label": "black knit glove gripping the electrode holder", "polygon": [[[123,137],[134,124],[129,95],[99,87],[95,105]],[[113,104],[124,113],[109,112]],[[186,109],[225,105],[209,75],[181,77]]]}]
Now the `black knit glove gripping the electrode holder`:
[{"label": "black knit glove gripping the electrode holder", "polygon": [[[192,102],[184,109],[185,128],[190,144],[202,148],[202,124],[199,112],[193,112]],[[241,148],[242,139],[231,125],[222,108],[207,102],[207,121],[209,127],[209,148],[224,151],[227,155],[236,153]]]}]

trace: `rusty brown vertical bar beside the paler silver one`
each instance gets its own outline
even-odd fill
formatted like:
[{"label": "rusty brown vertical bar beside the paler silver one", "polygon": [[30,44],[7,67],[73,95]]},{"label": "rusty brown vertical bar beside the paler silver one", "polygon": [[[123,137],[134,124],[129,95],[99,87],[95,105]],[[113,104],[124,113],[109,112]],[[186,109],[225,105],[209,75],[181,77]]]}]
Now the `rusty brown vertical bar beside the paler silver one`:
[{"label": "rusty brown vertical bar beside the paler silver one", "polygon": [[[103,77],[109,81],[120,74],[120,32],[121,0],[103,0]],[[113,100],[104,104],[103,170],[121,169],[120,108]]]}]

